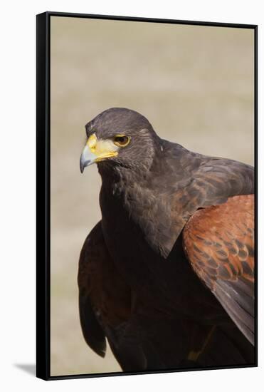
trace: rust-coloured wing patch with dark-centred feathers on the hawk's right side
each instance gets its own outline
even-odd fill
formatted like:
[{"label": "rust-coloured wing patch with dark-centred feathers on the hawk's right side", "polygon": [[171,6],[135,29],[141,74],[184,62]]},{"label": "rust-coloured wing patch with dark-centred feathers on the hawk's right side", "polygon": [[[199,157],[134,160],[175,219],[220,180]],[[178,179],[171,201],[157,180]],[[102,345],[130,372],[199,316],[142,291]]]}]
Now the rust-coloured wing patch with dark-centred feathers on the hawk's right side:
[{"label": "rust-coloured wing patch with dark-centred feathers on the hawk's right side", "polygon": [[253,195],[198,210],[184,228],[183,241],[196,274],[253,343]]}]

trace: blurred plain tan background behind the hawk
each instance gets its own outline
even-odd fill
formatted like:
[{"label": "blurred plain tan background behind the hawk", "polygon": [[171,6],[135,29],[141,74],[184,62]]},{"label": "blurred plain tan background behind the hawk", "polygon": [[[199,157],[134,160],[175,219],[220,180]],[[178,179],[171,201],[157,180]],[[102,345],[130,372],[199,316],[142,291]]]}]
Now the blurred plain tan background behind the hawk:
[{"label": "blurred plain tan background behind the hawk", "polygon": [[120,371],[85,344],[78,257],[100,220],[100,177],[80,175],[85,123],[145,115],[163,138],[253,164],[253,30],[51,17],[51,374]]}]

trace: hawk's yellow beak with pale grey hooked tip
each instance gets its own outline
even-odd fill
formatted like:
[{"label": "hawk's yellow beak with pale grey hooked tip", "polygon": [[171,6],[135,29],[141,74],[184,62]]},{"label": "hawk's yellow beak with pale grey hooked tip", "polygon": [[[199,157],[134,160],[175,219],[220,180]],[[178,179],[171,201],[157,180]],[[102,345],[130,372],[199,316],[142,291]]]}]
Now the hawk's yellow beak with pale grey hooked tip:
[{"label": "hawk's yellow beak with pale grey hooked tip", "polygon": [[88,138],[82,155],[80,155],[80,172],[85,170],[86,166],[95,162],[100,162],[107,158],[115,157],[118,147],[112,140],[98,140],[95,133]]}]

